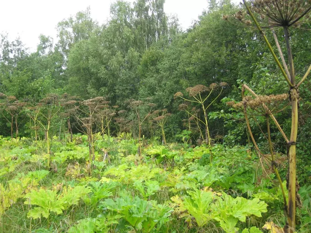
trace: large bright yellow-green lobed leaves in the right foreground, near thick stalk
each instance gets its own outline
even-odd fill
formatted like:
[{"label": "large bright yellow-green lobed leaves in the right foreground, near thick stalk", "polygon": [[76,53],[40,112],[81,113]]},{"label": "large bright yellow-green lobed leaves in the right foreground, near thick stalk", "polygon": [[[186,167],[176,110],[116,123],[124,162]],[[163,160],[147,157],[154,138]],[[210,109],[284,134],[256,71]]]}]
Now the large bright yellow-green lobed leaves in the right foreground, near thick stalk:
[{"label": "large bright yellow-green lobed leaves in the right foreground, near thick stalk", "polygon": [[261,217],[262,212],[267,212],[267,204],[260,202],[258,198],[234,199],[224,192],[220,194],[204,190],[187,193],[188,196],[183,197],[183,201],[178,204],[181,211],[187,210],[195,218],[198,226],[206,225],[213,219],[219,222],[225,232],[234,233],[239,230],[235,227],[238,221],[245,222],[247,216]]}]

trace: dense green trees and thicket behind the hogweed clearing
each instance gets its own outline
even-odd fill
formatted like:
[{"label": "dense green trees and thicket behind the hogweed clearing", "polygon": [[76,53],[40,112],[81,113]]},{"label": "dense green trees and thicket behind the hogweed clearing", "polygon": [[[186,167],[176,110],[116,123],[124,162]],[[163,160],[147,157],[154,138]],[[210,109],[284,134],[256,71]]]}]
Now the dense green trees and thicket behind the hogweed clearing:
[{"label": "dense green trees and thicket behind the hogweed clearing", "polygon": [[[104,96],[111,106],[119,106],[121,112],[116,113],[117,120],[123,117],[124,111],[127,111],[128,120],[137,120],[135,111],[128,108],[130,99],[155,103],[156,109],[168,109],[172,114],[164,131],[167,140],[175,141],[187,135],[183,130],[187,129],[184,119],[188,116],[180,111],[182,101],[174,100],[174,94],[199,84],[210,86],[226,82],[228,85],[208,109],[211,138],[214,142],[231,145],[248,143],[242,115],[229,111],[225,102],[240,98],[239,88],[243,83],[258,94],[286,91],[286,83],[267,53],[268,48],[255,30],[222,19],[223,15],[239,10],[228,1],[210,1],[209,9],[202,12],[187,31],[181,30],[176,17],[164,13],[163,4],[164,0],[137,0],[134,4],[118,1],[111,6],[109,22],[103,25],[91,19],[89,9],[78,12],[58,23],[55,45],[52,38],[40,35],[35,53],[29,53],[19,39],[9,42],[7,36],[2,35],[0,92],[33,105],[49,93],[68,93],[80,100]],[[282,35],[282,31],[277,33]],[[310,32],[291,29],[290,34],[295,68],[303,75],[311,62]],[[273,40],[269,31],[267,37]],[[281,43],[281,47],[285,48],[285,43]],[[300,88],[303,100],[299,102],[301,117],[297,141],[304,143],[297,146],[298,158],[303,161],[311,156],[310,88],[310,80]],[[211,99],[218,94],[213,92]],[[142,111],[149,110],[145,107]],[[0,134],[10,135],[11,124],[4,118],[9,117],[8,113],[2,112]],[[202,111],[198,115],[203,119]],[[290,131],[289,117],[289,110],[278,116],[286,133]],[[19,118],[24,122],[19,125],[19,136],[30,136],[30,126],[26,124],[29,116],[21,112]],[[66,127],[60,128],[65,125],[66,118],[59,117],[57,121],[60,123],[52,127],[51,135],[66,131]],[[111,123],[114,134],[118,132],[119,123],[116,120]],[[251,121],[251,124],[257,126],[258,122]],[[259,124],[266,127],[264,122]],[[138,135],[138,127],[131,124],[128,127],[134,136]],[[274,146],[277,151],[284,152],[285,144],[273,127]],[[153,131],[148,121],[142,128],[143,135],[162,135],[161,131]],[[72,129],[77,131],[81,127],[77,124]],[[44,130],[41,131],[43,135]],[[193,144],[202,139],[198,130],[190,131]],[[254,134],[259,141],[264,138],[260,130]],[[304,166],[299,167],[300,171],[310,172],[308,165],[301,165],[307,163],[297,164]],[[300,179],[307,180],[309,176],[304,172]]]}]

